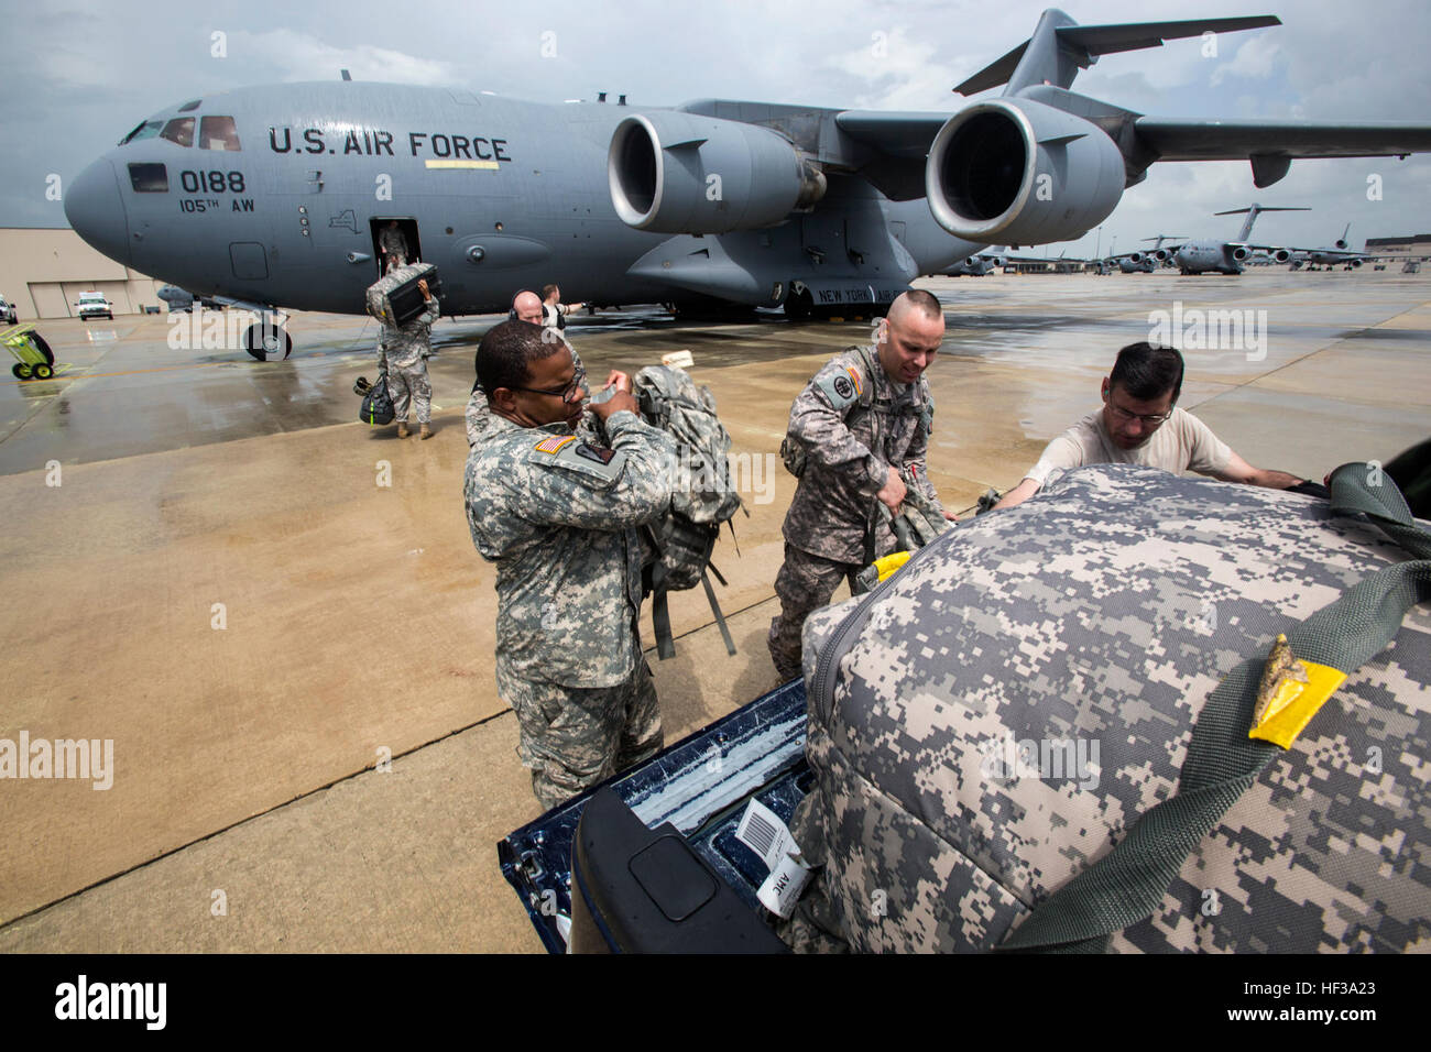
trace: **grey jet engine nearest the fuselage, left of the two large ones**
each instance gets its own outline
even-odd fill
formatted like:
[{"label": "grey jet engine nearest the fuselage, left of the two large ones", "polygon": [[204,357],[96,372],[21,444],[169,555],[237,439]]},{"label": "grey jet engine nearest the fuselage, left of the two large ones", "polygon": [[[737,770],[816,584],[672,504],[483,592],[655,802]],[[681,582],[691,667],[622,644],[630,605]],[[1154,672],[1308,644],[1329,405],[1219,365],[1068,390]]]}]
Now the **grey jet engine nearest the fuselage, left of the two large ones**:
[{"label": "grey jet engine nearest the fuselage, left of the two large ones", "polygon": [[740,120],[658,110],[611,135],[611,203],[654,233],[727,233],[778,223],[824,196],[824,173],[784,136]]}]

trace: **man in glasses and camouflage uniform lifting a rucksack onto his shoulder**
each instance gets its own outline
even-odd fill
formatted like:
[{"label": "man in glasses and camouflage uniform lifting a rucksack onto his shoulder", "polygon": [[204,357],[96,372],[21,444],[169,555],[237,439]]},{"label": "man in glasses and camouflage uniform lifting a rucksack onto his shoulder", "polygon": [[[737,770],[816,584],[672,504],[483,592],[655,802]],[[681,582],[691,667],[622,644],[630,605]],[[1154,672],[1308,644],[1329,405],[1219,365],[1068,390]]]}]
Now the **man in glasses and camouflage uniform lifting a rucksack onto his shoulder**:
[{"label": "man in glasses and camouflage uniform lifting a rucksack onto his shoulder", "polygon": [[661,717],[641,656],[643,545],[665,514],[675,447],[612,372],[592,404],[611,448],[572,434],[585,389],[565,344],[504,322],[478,348],[488,412],[467,462],[472,542],[497,562],[497,687],[544,807],[654,756]]}]

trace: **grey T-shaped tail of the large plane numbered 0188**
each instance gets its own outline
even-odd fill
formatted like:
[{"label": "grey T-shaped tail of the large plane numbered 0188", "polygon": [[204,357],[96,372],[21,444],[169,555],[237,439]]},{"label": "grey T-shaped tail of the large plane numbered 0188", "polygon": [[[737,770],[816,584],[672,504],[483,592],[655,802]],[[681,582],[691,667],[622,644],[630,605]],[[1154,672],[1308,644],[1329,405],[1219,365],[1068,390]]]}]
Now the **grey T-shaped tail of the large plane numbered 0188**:
[{"label": "grey T-shaped tail of the large plane numbered 0188", "polygon": [[985,66],[959,84],[959,94],[976,94],[1007,84],[1005,94],[1016,94],[1033,84],[1068,89],[1080,69],[1088,69],[1100,54],[1161,47],[1168,40],[1198,37],[1203,33],[1231,33],[1264,26],[1281,26],[1272,14],[1246,19],[1192,19],[1185,21],[1125,21],[1108,26],[1079,26],[1063,11],[1050,7],[1039,17],[1033,36]]}]

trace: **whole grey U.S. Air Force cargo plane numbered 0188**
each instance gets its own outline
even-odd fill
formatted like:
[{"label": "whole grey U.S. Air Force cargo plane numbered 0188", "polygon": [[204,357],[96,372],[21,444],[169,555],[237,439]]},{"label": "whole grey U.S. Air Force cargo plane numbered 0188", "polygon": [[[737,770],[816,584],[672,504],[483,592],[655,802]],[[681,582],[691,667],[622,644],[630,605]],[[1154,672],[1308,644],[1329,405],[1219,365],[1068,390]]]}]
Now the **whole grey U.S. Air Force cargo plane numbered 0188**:
[{"label": "whole grey U.S. Air Force cargo plane numbered 0188", "polygon": [[714,298],[816,308],[890,302],[990,243],[1083,236],[1155,160],[1431,150],[1431,127],[1148,117],[1075,94],[1102,54],[1281,24],[1271,16],[1079,26],[1033,36],[959,84],[1000,97],[950,113],[701,100],[547,106],[467,90],[332,83],[222,92],[160,110],[82,172],[64,212],[136,271],[265,321],[361,313],[378,232],[442,275],[449,315],[555,282],[591,303]]}]

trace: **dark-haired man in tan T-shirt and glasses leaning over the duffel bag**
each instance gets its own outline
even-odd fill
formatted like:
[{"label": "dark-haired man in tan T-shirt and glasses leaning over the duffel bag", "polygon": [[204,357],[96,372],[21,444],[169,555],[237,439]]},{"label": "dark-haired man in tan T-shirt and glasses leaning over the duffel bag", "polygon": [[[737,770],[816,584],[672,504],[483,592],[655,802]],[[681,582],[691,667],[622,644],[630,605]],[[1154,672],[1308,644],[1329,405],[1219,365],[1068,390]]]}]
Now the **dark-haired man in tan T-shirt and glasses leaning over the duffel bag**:
[{"label": "dark-haired man in tan T-shirt and glasses leaning over the duffel bag", "polygon": [[1165,471],[1196,471],[1225,482],[1272,490],[1301,485],[1285,471],[1254,468],[1206,424],[1175,406],[1182,392],[1182,355],[1172,348],[1130,344],[1103,378],[1103,408],[1049,442],[1023,481],[995,505],[1012,508],[1033,497],[1055,471],[1085,464],[1142,464]]}]

